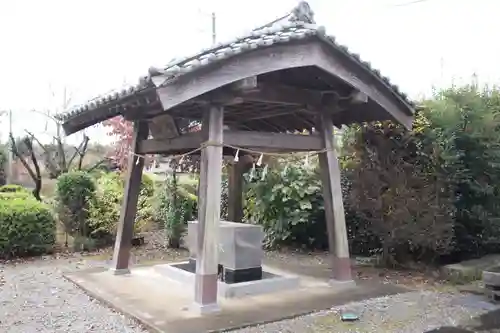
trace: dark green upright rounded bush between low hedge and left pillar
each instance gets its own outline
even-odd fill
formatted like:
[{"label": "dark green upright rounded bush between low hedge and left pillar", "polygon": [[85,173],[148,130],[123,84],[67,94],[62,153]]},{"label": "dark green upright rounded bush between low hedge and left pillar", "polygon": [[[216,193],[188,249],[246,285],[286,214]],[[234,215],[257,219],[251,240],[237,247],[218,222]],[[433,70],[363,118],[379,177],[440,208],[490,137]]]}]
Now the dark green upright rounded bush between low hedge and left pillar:
[{"label": "dark green upright rounded bush between low hedge and left pillar", "polygon": [[95,184],[85,172],[74,171],[62,174],[57,179],[56,197],[59,220],[70,235],[86,236],[88,210],[95,196]]}]

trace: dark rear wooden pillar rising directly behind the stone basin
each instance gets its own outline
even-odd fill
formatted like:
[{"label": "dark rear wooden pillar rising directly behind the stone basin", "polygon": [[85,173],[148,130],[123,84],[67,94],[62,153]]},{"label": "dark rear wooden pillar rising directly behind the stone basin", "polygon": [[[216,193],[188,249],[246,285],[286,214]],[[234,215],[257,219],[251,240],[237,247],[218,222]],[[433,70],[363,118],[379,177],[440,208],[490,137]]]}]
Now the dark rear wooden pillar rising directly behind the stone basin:
[{"label": "dark rear wooden pillar rising directly behind the stone basin", "polygon": [[229,169],[227,203],[228,221],[243,221],[243,174],[248,171],[252,165],[251,158],[247,157],[249,156],[241,156],[240,160],[233,163]]}]

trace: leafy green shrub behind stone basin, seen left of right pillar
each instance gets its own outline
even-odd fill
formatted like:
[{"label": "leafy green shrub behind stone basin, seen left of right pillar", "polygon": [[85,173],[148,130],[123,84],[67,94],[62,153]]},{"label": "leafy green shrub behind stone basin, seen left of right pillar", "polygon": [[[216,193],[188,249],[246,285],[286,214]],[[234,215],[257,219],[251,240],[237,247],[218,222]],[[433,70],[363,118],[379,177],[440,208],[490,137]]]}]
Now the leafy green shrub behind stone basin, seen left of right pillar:
[{"label": "leafy green shrub behind stone basin, seen left of right pillar", "polygon": [[326,248],[323,197],[315,169],[295,163],[269,168],[263,179],[260,173],[256,176],[246,191],[245,219],[264,227],[265,245]]}]

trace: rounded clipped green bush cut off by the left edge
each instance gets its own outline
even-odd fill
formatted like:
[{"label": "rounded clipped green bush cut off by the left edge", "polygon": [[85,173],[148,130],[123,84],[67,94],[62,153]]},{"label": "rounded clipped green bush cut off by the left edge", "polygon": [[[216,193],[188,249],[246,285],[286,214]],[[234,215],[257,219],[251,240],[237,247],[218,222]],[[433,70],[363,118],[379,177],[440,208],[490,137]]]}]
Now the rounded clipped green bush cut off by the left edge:
[{"label": "rounded clipped green bush cut off by the left edge", "polygon": [[55,235],[56,222],[45,204],[34,199],[0,200],[1,257],[47,253]]}]

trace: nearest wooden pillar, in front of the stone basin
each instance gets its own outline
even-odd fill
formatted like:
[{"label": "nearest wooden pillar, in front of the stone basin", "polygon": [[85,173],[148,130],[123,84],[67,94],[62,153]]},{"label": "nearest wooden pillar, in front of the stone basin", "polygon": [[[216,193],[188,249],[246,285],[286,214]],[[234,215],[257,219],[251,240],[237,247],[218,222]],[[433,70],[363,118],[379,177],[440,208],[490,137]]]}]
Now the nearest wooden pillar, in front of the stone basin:
[{"label": "nearest wooden pillar, in front of the stone basin", "polygon": [[218,310],[223,115],[222,107],[211,106],[202,124],[209,145],[201,152],[194,297],[195,307],[202,313]]}]

